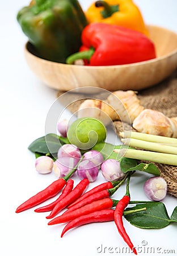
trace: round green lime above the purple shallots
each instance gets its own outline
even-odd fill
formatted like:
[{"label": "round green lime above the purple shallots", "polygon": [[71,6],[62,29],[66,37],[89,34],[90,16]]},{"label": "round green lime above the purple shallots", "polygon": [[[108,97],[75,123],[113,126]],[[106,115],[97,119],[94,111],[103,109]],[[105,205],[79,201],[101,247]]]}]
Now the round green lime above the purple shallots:
[{"label": "round green lime above the purple shallots", "polygon": [[106,127],[96,118],[79,118],[71,123],[67,136],[71,144],[88,150],[106,139]]}]

